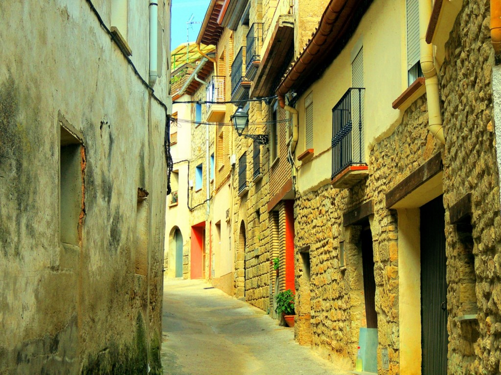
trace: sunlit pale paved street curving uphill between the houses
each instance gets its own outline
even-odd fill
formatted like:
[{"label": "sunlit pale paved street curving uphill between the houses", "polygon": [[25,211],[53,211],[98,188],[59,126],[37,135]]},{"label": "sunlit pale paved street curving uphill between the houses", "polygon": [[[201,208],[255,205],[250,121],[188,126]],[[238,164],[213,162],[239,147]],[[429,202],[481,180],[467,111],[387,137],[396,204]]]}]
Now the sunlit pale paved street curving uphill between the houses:
[{"label": "sunlit pale paved street curving uphill between the houses", "polygon": [[201,280],[164,282],[164,374],[345,374],[260,309]]}]

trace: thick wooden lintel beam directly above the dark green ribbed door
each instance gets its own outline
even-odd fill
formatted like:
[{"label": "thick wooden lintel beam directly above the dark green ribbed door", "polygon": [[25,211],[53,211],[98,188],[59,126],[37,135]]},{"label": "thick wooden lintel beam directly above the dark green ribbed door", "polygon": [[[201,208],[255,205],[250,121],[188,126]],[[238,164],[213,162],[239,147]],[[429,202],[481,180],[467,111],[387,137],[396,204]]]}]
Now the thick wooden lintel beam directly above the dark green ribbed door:
[{"label": "thick wooden lintel beam directly above the dark green ribbed door", "polygon": [[442,155],[437,152],[424,162],[419,168],[397,183],[386,193],[386,208],[390,208],[400,199],[404,198],[417,187],[421,186],[435,174],[443,169]]}]

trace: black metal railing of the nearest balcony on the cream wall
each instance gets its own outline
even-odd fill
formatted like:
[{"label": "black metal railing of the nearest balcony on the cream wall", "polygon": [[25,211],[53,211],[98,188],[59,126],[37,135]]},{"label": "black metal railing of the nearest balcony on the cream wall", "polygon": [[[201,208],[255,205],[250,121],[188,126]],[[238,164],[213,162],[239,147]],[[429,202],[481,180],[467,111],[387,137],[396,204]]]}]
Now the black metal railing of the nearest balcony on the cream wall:
[{"label": "black metal railing of the nearest balcony on the cream wall", "polygon": [[333,179],[348,165],[363,163],[362,87],[351,87],[332,108],[332,174]]}]

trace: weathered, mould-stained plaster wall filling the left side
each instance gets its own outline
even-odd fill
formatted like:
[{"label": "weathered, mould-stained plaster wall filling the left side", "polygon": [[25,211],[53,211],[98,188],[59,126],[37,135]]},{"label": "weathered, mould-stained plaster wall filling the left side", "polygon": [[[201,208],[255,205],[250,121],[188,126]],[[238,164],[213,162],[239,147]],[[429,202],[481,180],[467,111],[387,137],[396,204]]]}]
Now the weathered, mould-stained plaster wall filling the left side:
[{"label": "weathered, mould-stained plaster wall filling the left side", "polygon": [[[96,8],[106,22],[109,7]],[[160,373],[165,111],[85,1],[0,12],[0,373],[134,373],[148,362]],[[165,25],[167,14],[159,5]],[[134,21],[147,77],[148,17]],[[59,234],[61,123],[85,148],[76,245]],[[149,192],[148,276],[134,272],[138,187]]]}]

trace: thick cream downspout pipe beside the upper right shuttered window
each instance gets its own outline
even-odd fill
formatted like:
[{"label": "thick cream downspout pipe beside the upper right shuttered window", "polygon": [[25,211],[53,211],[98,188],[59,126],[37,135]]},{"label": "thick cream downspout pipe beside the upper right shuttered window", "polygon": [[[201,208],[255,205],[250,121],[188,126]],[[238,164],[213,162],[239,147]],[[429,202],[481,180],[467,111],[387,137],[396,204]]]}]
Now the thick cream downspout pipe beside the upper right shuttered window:
[{"label": "thick cream downspout pipe beside the upper right shuttered window", "polygon": [[433,63],[433,45],[426,42],[426,30],[431,16],[431,1],[419,0],[419,48],[421,52],[421,70],[426,86],[426,100],[428,105],[428,129],[442,144],[445,144],[443,135],[442,115],[440,112],[440,96],[438,93],[438,77]]}]

